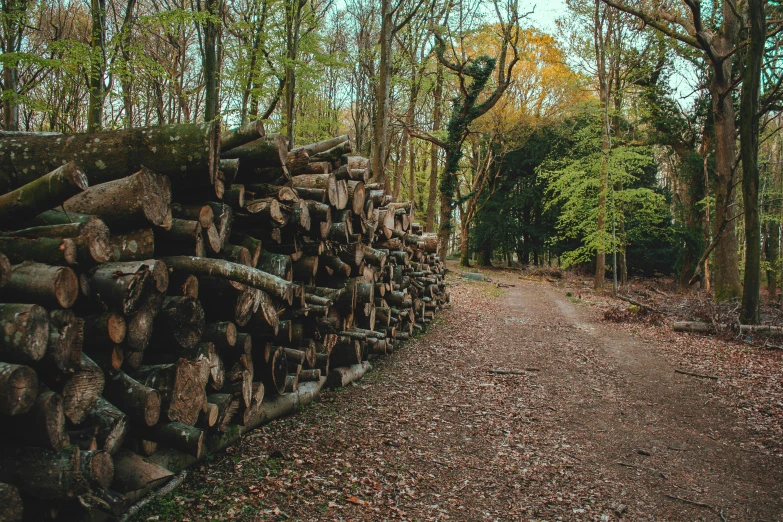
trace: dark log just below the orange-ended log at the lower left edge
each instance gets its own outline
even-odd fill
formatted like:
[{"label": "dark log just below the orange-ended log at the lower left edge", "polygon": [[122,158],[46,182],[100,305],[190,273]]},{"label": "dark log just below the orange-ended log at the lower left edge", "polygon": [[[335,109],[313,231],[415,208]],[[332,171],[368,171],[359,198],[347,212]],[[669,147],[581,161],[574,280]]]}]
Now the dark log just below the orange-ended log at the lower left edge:
[{"label": "dark log just below the orange-ended log at the lower left edge", "polygon": [[53,450],[61,450],[69,444],[63,398],[53,391],[43,391],[28,412],[8,417],[3,422],[4,437],[17,444]]}]

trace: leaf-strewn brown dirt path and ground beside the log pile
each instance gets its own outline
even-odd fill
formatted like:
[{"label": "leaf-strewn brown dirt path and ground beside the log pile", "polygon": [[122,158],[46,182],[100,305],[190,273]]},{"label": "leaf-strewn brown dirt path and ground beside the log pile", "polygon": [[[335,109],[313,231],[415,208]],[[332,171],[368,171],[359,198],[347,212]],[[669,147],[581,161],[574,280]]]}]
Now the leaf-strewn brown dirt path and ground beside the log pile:
[{"label": "leaf-strewn brown dirt path and ground beside the log pile", "polygon": [[429,332],[134,520],[783,519],[783,352],[485,273],[452,273]]}]

